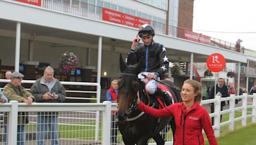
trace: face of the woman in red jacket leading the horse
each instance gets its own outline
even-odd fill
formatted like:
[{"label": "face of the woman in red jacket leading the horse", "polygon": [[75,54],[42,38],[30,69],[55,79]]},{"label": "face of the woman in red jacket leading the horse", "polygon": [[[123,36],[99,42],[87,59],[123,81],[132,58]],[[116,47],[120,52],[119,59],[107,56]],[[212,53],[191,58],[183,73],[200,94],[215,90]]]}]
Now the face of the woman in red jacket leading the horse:
[{"label": "face of the woman in red jacket leading the horse", "polygon": [[181,90],[181,97],[184,102],[191,102],[195,100],[197,93],[195,93],[195,88],[189,83],[184,83]]}]

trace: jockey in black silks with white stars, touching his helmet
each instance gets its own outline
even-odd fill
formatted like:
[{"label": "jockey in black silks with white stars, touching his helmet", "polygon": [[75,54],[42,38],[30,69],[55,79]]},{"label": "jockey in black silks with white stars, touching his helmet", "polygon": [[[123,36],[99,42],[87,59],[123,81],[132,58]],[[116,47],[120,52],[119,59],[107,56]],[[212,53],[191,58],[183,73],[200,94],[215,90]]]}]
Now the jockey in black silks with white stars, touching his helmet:
[{"label": "jockey in black silks with white stars, touching his helmet", "polygon": [[[164,74],[168,73],[168,55],[164,46],[153,40],[154,35],[155,32],[151,25],[141,25],[138,35],[132,41],[131,50],[127,57],[127,65],[137,64],[143,58],[143,66],[138,78],[146,84],[145,88],[149,94],[162,97],[166,106],[169,106],[171,104],[170,96],[157,88],[158,83],[155,80],[163,79]],[[140,40],[143,43],[140,44]]]}]

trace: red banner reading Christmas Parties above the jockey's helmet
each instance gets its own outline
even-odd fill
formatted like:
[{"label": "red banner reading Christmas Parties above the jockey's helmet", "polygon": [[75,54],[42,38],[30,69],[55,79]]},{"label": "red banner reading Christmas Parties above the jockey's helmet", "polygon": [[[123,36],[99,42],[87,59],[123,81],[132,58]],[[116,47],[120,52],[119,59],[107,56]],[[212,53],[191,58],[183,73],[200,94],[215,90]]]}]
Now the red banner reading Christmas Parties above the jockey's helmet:
[{"label": "red banner reading Christmas Parties above the jockey's helmet", "polygon": [[145,18],[135,17],[119,11],[109,10],[108,8],[102,8],[102,20],[135,28],[139,28],[141,25],[149,24],[150,22],[150,20]]}]

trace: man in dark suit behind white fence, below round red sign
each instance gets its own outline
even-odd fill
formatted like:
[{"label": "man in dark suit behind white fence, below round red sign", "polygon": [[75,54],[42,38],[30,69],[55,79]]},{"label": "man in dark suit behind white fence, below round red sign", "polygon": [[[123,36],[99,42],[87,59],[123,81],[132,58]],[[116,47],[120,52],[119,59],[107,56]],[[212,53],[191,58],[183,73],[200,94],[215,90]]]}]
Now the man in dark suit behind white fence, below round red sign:
[{"label": "man in dark suit behind white fence, below round red sign", "polygon": [[[224,85],[224,83],[225,82],[223,78],[218,79],[218,85],[216,85],[216,94],[220,92],[221,97],[228,97],[228,87]],[[209,99],[214,99],[216,94],[214,94],[214,86],[212,86]],[[214,113],[214,103],[211,103],[210,106],[211,106],[211,113]],[[221,107],[220,107],[221,111],[223,110],[223,106],[225,106],[225,101],[221,101]],[[220,115],[220,121],[221,119],[222,119],[222,115]],[[213,117],[212,117],[212,125],[214,125]]]}]

